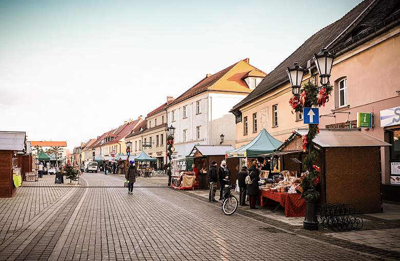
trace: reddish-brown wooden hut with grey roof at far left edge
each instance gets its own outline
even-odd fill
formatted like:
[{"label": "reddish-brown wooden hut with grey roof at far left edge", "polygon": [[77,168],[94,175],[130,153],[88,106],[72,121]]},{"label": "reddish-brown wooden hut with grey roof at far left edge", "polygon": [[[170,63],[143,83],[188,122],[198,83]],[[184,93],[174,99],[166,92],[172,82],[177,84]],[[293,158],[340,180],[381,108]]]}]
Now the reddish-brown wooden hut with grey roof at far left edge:
[{"label": "reddish-brown wooden hut with grey roof at far left edge", "polygon": [[26,149],[25,138],[25,132],[0,132],[0,198],[11,198],[16,192],[13,170],[18,167],[17,152]]}]

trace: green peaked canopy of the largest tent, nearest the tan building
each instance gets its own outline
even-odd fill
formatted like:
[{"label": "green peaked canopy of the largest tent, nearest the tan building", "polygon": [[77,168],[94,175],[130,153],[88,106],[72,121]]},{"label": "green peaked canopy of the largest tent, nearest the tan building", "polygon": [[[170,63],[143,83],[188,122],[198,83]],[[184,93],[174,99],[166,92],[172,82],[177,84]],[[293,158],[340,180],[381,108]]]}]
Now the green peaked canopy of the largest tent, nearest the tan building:
[{"label": "green peaked canopy of the largest tent, nearest the tan building", "polygon": [[282,142],[273,138],[265,128],[249,144],[226,152],[228,158],[257,157],[273,151],[281,146]]}]

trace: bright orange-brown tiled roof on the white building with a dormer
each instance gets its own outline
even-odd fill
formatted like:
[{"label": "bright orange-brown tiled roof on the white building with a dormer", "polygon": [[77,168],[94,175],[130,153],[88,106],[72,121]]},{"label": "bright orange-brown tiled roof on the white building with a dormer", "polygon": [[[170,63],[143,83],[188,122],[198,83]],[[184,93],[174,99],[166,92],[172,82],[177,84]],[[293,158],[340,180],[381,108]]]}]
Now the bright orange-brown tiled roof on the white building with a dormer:
[{"label": "bright orange-brown tiled roof on the white building with a dormer", "polygon": [[256,68],[251,66],[245,60],[240,60],[222,71],[219,71],[209,77],[203,78],[201,81],[194,84],[192,88],[190,88],[181,96],[177,97],[173,102],[168,104],[167,107],[208,90],[250,93],[251,91],[249,89],[249,86],[242,79],[242,77]]}]

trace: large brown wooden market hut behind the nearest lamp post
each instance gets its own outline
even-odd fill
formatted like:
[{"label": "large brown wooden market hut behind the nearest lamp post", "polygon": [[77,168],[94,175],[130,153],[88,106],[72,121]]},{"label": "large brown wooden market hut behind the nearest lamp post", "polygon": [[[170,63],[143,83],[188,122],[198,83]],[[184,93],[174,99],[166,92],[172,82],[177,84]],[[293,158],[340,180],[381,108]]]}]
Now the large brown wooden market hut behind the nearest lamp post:
[{"label": "large brown wooden market hut behind the nearest lamp post", "polygon": [[[308,129],[297,129],[276,151],[283,170],[303,172],[301,137]],[[313,140],[319,151],[314,163],[321,167],[321,204],[351,204],[357,213],[380,212],[381,147],[389,143],[358,129],[321,129]]]}]

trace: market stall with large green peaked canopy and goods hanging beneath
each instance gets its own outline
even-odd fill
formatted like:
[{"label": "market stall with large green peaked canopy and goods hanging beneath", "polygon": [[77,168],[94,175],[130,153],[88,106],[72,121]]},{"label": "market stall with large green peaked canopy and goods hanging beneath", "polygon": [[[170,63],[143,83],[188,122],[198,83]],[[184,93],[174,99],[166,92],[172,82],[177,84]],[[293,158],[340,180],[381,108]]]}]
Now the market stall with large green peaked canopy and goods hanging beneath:
[{"label": "market stall with large green peaked canopy and goods hanging beneath", "polygon": [[281,169],[280,160],[278,157],[268,155],[272,153],[282,142],[273,138],[265,128],[254,138],[250,143],[237,149],[226,151],[227,159],[236,159],[239,165],[250,167],[255,165],[260,170],[263,176],[278,175]]}]

